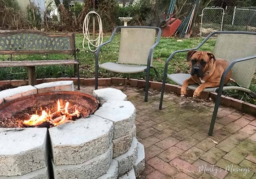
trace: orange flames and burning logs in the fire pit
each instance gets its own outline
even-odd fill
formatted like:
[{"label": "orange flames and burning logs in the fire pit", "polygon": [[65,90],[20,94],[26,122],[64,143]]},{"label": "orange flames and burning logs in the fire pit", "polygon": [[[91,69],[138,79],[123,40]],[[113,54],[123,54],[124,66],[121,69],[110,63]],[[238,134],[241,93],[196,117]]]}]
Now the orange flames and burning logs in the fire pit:
[{"label": "orange flames and burning logs in the fire pit", "polygon": [[30,119],[24,120],[23,124],[25,126],[39,126],[43,123],[49,123],[53,126],[57,126],[60,124],[64,124],[72,121],[73,119],[78,119],[80,117],[80,112],[75,109],[73,113],[69,113],[69,102],[65,103],[65,107],[61,108],[61,102],[58,100],[57,102],[57,111],[51,113],[47,113],[45,110],[41,108],[41,115],[37,115],[37,111],[35,115],[31,115]]}]

